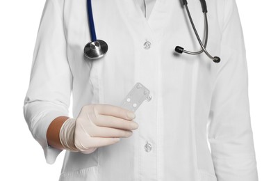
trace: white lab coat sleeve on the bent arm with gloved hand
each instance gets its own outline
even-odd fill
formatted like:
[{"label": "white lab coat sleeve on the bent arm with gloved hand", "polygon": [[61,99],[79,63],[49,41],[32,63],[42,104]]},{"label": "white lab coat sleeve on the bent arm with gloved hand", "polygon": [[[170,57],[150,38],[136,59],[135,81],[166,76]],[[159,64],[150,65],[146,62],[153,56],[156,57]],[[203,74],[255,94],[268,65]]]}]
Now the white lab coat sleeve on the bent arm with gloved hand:
[{"label": "white lab coat sleeve on the bent arm with gloved hand", "polygon": [[54,118],[68,116],[72,73],[63,29],[63,0],[47,0],[35,42],[31,80],[24,101],[24,117],[35,140],[53,164],[61,152],[47,144],[47,128]]}]

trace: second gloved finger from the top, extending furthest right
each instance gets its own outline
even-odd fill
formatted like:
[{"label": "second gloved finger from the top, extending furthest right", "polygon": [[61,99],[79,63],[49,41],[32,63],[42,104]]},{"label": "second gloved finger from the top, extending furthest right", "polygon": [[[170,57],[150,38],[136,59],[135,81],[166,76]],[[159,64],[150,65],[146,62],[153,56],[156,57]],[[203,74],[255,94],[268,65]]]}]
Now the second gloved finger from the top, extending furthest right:
[{"label": "second gloved finger from the top, extending furthest right", "polygon": [[134,130],[138,128],[138,124],[132,120],[124,120],[113,116],[98,115],[97,119],[92,122],[99,127],[113,127],[117,129]]}]

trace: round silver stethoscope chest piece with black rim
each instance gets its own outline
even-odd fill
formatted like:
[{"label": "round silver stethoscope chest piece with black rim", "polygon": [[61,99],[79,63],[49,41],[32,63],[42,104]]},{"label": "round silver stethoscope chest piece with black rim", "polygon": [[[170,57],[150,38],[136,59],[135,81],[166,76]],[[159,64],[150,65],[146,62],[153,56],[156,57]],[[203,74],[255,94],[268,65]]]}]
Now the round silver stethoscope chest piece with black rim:
[{"label": "round silver stethoscope chest piece with black rim", "polygon": [[103,40],[96,40],[88,42],[88,44],[85,45],[84,54],[87,58],[95,60],[104,56],[107,50],[108,45],[106,42],[104,42]]}]

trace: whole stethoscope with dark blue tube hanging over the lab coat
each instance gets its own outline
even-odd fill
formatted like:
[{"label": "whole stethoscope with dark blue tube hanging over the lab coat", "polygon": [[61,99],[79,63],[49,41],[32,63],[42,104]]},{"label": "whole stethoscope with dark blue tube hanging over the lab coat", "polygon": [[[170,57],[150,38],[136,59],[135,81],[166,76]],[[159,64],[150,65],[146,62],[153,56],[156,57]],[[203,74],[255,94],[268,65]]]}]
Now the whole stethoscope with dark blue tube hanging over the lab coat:
[{"label": "whole stethoscope with dark blue tube hanging over the lab coat", "polygon": [[[181,1],[183,1],[183,6],[186,7],[186,12],[188,14],[190,23],[192,25],[192,29],[195,33],[195,36],[197,37],[199,45],[202,47],[202,49],[198,52],[190,52],[190,51],[184,49],[183,47],[176,46],[175,52],[177,52],[179,54],[186,53],[186,54],[190,54],[190,55],[202,54],[202,52],[204,52],[209,58],[211,58],[211,60],[213,60],[213,62],[219,63],[220,58],[218,56],[211,56],[211,54],[209,54],[208,51],[206,50],[207,41],[208,41],[208,19],[207,19],[206,1],[199,0],[202,4],[202,12],[204,13],[204,31],[205,31],[204,43],[202,43],[202,40],[199,38],[199,34],[197,33],[197,29],[195,27],[195,24],[194,24],[192,17],[190,15],[190,11],[188,9],[187,1],[186,0],[181,0]],[[84,54],[87,58],[89,58],[91,60],[96,60],[96,59],[103,57],[106,54],[106,52],[108,51],[108,45],[106,44],[106,42],[104,40],[97,40],[96,31],[95,31],[95,24],[94,24],[94,19],[93,19],[93,15],[92,15],[91,0],[87,0],[87,4],[88,4],[88,22],[89,22],[89,26],[90,26],[90,34],[91,34],[92,42],[88,42],[88,44],[85,45]]]}]

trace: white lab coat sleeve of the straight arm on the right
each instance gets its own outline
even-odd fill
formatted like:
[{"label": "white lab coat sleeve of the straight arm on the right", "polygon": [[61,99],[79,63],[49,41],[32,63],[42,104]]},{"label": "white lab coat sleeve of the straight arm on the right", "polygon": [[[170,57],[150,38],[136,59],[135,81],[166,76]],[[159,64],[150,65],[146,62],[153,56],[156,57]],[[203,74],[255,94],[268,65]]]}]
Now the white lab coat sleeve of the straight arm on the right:
[{"label": "white lab coat sleeve of the straight arm on the right", "polygon": [[220,58],[208,126],[217,181],[257,181],[247,61],[235,0],[224,1]]}]

